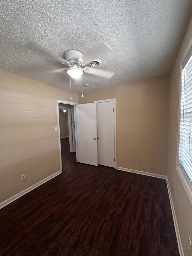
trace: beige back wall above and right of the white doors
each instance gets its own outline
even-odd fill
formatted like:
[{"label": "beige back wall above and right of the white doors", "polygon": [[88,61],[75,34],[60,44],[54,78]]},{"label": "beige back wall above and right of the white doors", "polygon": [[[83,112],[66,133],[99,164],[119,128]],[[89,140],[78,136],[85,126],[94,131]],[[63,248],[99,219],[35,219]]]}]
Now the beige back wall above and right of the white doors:
[{"label": "beige back wall above and right of the white doors", "polygon": [[117,166],[165,175],[169,76],[78,94],[78,103],[116,98]]}]

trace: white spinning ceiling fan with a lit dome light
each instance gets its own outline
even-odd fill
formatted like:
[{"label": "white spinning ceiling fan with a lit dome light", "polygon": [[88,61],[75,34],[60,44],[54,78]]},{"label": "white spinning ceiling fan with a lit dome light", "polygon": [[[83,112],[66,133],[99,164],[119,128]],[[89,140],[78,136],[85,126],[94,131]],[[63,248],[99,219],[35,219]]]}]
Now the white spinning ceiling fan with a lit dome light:
[{"label": "white spinning ceiling fan with a lit dome light", "polygon": [[101,47],[96,48],[87,56],[84,56],[83,53],[77,50],[68,50],[64,53],[64,58],[54,53],[50,53],[48,50],[34,43],[28,43],[27,46],[51,56],[53,59],[61,62],[63,65],[68,65],[69,68],[64,68],[63,70],[67,70],[67,74],[75,79],[81,77],[83,72],[107,79],[113,77],[115,74],[112,71],[96,68],[102,63],[99,59],[97,59],[98,56],[101,56],[108,51],[113,51],[109,45],[103,42],[101,42]]}]

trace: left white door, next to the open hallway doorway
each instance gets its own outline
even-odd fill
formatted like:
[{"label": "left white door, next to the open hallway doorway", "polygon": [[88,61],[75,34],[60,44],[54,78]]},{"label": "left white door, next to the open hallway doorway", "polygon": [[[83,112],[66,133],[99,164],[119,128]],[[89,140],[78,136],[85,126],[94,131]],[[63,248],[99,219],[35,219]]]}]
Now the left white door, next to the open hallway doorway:
[{"label": "left white door, next to the open hallway doorway", "polygon": [[[98,165],[96,103],[76,105],[78,162]],[[95,138],[95,139],[94,139]]]}]

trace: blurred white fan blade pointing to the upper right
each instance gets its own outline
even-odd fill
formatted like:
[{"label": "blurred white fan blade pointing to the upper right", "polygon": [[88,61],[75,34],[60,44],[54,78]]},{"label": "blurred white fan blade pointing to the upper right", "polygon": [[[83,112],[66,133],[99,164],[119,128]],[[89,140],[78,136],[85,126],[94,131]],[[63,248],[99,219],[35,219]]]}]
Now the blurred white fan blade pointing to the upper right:
[{"label": "blurred white fan blade pointing to the upper right", "polygon": [[104,55],[109,51],[113,51],[113,49],[108,44],[105,44],[104,42],[101,43],[102,44],[100,47],[95,48],[95,50],[93,50],[91,53],[84,56],[83,58],[80,58],[79,60],[84,64],[88,64],[91,60],[98,59],[99,56]]}]

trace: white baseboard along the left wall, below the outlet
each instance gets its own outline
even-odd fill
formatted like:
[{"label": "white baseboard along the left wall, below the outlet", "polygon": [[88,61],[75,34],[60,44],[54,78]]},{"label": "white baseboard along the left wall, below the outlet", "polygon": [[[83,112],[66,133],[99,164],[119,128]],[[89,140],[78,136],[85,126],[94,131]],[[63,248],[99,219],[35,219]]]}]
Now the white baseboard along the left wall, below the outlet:
[{"label": "white baseboard along the left wall, below the outlet", "polygon": [[43,183],[47,182],[49,179],[54,178],[55,176],[61,174],[61,171],[58,171],[56,173],[53,173],[52,175],[50,175],[49,177],[42,179],[41,181],[39,181],[38,183],[32,185],[29,188],[26,188],[25,190],[19,192],[18,194],[8,198],[7,200],[3,201],[2,203],[0,203],[0,209],[3,208],[4,206],[6,206],[7,204],[15,201],[16,199],[18,199],[19,197],[22,197],[24,194],[27,194],[29,191],[33,190],[34,188],[39,187],[40,185],[42,185]]}]

